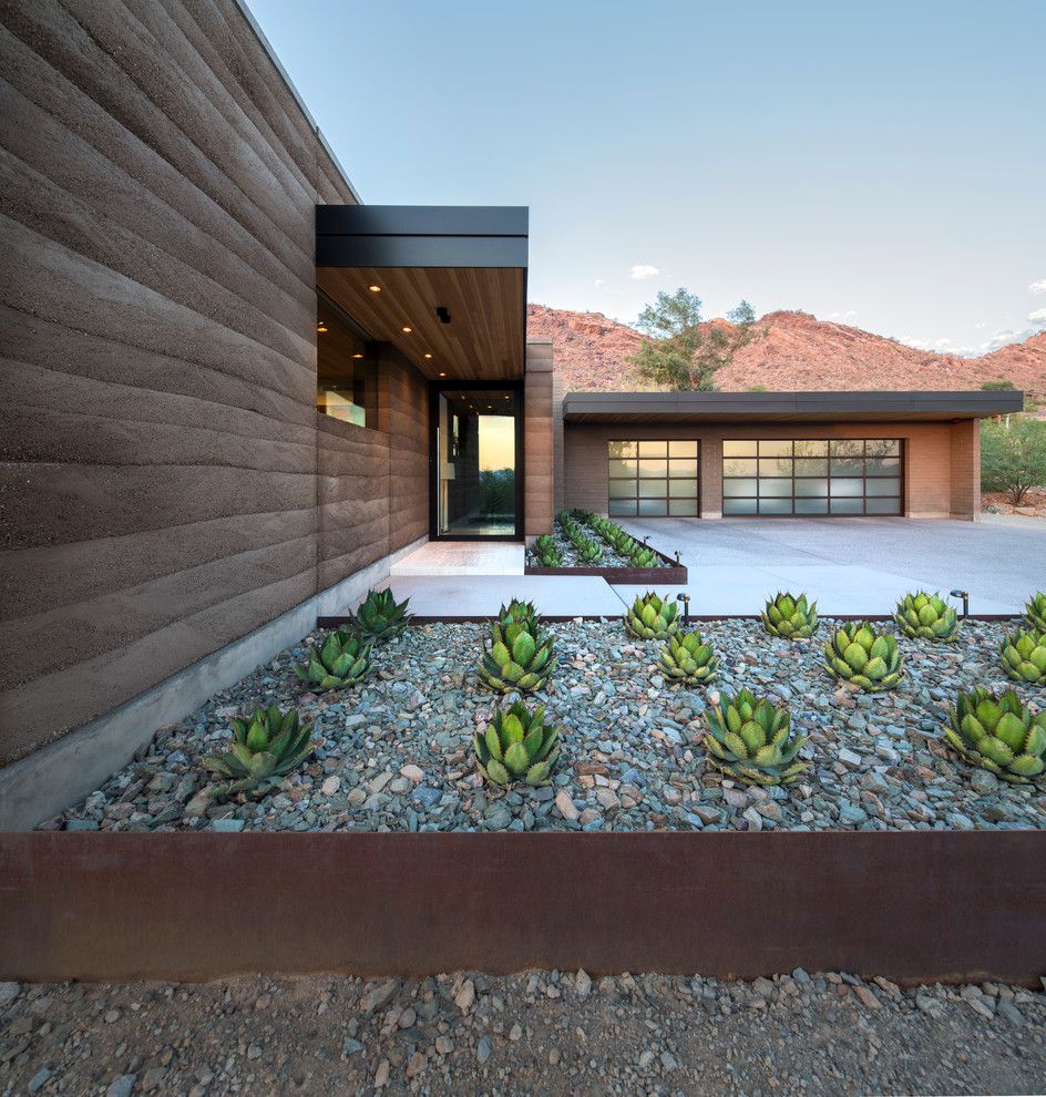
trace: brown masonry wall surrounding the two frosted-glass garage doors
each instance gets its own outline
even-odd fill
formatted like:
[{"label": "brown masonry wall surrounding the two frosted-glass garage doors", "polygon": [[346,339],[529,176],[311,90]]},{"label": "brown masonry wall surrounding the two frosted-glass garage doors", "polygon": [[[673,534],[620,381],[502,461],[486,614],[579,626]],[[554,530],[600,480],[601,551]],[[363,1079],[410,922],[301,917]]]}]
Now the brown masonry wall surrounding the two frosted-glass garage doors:
[{"label": "brown masonry wall surrounding the two frosted-glass garage doors", "polygon": [[701,516],[722,513],[725,438],[901,438],[904,440],[904,513],[909,517],[975,519],[980,513],[980,434],[975,422],[847,423],[825,427],[643,426],[567,423],[564,431],[564,505],[606,513],[611,440],[685,438],[701,443]]}]

